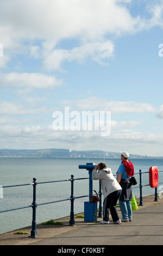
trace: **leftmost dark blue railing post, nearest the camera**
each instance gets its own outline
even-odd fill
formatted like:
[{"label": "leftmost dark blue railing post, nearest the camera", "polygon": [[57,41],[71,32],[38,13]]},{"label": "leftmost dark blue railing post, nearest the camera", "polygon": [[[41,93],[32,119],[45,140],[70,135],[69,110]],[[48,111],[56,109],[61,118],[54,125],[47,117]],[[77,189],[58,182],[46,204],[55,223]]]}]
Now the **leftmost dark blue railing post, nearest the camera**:
[{"label": "leftmost dark blue railing post, nearest the camera", "polygon": [[36,178],[33,178],[33,203],[32,203],[32,208],[33,208],[33,220],[32,220],[32,230],[30,233],[30,238],[35,238],[37,237],[37,230],[36,230],[36,208],[37,208],[37,204],[36,204]]}]

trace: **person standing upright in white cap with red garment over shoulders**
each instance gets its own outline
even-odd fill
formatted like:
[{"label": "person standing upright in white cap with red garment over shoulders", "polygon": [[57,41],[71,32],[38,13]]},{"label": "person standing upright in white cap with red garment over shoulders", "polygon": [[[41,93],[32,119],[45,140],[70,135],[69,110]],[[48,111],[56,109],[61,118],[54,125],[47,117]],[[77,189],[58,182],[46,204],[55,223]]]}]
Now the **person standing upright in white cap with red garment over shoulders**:
[{"label": "person standing upright in white cap with red garment over shoulders", "polygon": [[119,198],[119,204],[122,212],[121,222],[133,221],[131,210],[132,189],[129,177],[134,175],[134,166],[129,160],[129,154],[124,151],[121,154],[121,165],[117,171],[117,181],[122,187],[122,194]]}]

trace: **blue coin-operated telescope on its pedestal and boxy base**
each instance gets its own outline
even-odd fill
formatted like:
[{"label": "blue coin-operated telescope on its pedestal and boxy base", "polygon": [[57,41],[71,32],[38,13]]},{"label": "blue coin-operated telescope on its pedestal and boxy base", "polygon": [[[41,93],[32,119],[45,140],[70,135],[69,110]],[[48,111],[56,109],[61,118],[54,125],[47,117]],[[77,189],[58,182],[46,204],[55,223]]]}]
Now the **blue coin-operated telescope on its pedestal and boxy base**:
[{"label": "blue coin-operated telescope on its pedestal and boxy base", "polygon": [[84,221],[97,221],[97,202],[91,203],[91,191],[93,190],[92,171],[95,169],[95,163],[86,163],[79,165],[79,169],[89,170],[89,202],[84,202]]}]

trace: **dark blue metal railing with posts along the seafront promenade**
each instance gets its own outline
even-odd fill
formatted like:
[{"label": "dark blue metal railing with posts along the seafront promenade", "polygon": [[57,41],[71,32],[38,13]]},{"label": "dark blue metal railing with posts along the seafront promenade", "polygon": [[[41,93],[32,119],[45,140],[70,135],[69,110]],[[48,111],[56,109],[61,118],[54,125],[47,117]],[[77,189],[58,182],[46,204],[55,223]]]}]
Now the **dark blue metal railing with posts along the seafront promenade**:
[{"label": "dark blue metal railing with posts along the seafront promenade", "polygon": [[[159,172],[163,172],[163,170],[160,170]],[[143,205],[143,197],[142,197],[142,187],[145,186],[149,186],[149,184],[146,185],[142,185],[142,174],[145,174],[149,172],[142,172],[141,170],[139,170],[139,173],[135,173],[135,175],[139,174],[140,176],[140,184],[139,186],[133,186],[132,188],[139,188],[140,189],[140,206]],[[28,186],[28,185],[33,185],[33,202],[31,205],[26,205],[26,206],[21,206],[18,208],[13,208],[13,209],[6,209],[6,210],[2,210],[1,212],[7,212],[7,211],[14,211],[14,210],[19,210],[19,209],[24,209],[24,208],[30,208],[32,207],[33,209],[33,218],[32,218],[32,230],[30,233],[31,238],[35,238],[37,237],[37,230],[36,230],[36,208],[39,205],[45,205],[45,204],[52,204],[52,203],[58,203],[58,202],[64,202],[66,200],[70,200],[71,201],[71,211],[70,211],[70,222],[69,225],[73,226],[75,224],[74,222],[74,199],[78,199],[78,198],[84,198],[84,197],[90,197],[89,195],[82,195],[82,196],[78,196],[78,197],[74,197],[74,189],[73,189],[73,185],[74,185],[74,181],[75,180],[84,180],[84,179],[91,179],[91,176],[89,175],[89,178],[77,178],[74,179],[74,175],[71,175],[70,179],[67,180],[55,180],[55,181],[45,181],[45,182],[37,182],[36,178],[33,178],[33,182],[28,183],[28,184],[17,184],[17,185],[5,185],[2,186],[3,188],[8,188],[8,187],[17,187],[17,186]],[[36,203],[36,186],[38,184],[48,184],[48,183],[53,183],[53,182],[64,182],[64,181],[71,181],[71,196],[70,198],[65,198],[65,199],[60,199],[60,200],[54,200],[52,202],[46,202],[46,203]],[[163,182],[159,182],[159,184],[163,184]],[[102,217],[102,189],[101,189],[101,182],[99,181],[99,211],[98,211],[98,217]],[[157,187],[155,187],[155,198],[154,198],[155,202],[158,202],[158,193],[157,193]]]}]

